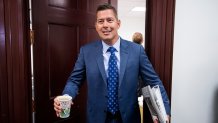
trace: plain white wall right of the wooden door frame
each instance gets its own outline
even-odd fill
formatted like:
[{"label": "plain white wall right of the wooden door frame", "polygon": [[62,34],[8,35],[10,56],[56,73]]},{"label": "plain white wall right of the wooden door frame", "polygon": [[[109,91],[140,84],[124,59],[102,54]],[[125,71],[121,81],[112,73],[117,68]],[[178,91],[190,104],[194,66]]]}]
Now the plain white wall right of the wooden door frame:
[{"label": "plain white wall right of the wooden door frame", "polygon": [[176,0],[173,53],[172,123],[218,123],[217,0]]}]

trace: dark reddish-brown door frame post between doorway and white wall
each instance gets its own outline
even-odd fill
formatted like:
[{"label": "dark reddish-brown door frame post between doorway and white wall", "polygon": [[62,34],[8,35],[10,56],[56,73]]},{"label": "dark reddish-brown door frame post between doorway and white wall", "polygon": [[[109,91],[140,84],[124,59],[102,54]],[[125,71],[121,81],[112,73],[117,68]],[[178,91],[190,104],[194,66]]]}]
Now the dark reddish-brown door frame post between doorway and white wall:
[{"label": "dark reddish-brown door frame post between doorway and white wall", "polygon": [[170,100],[175,1],[146,0],[145,50]]}]

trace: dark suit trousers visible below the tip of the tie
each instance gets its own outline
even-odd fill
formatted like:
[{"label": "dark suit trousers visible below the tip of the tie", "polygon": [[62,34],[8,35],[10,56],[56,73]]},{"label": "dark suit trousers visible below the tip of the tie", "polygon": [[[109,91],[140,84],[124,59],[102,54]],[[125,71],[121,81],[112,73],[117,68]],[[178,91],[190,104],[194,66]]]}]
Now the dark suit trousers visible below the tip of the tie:
[{"label": "dark suit trousers visible below the tip of the tie", "polygon": [[105,123],[122,123],[120,112],[116,112],[115,114],[107,112],[107,118]]}]

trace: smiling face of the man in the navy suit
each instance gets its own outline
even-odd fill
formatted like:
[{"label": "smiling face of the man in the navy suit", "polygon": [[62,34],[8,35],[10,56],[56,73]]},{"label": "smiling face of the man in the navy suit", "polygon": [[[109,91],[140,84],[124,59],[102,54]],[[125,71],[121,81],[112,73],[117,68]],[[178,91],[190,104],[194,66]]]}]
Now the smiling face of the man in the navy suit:
[{"label": "smiling face of the man in the navy suit", "polygon": [[100,38],[106,43],[114,44],[118,40],[119,27],[120,21],[115,17],[113,10],[107,9],[97,12],[95,28]]}]

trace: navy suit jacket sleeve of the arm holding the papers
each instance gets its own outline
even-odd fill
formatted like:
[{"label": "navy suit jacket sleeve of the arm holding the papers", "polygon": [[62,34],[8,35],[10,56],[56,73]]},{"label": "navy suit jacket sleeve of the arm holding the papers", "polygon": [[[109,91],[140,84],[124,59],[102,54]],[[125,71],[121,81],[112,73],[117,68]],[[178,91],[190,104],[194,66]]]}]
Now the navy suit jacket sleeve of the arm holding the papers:
[{"label": "navy suit jacket sleeve of the arm holding the papers", "polygon": [[162,81],[154,71],[152,64],[148,60],[148,57],[142,46],[140,48],[140,75],[142,80],[145,82],[145,85],[150,85],[151,87],[159,85],[164,106],[166,108],[166,113],[170,115],[170,104],[166,90],[164,89]]}]

